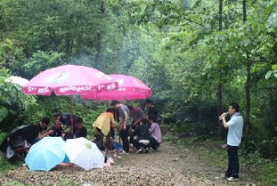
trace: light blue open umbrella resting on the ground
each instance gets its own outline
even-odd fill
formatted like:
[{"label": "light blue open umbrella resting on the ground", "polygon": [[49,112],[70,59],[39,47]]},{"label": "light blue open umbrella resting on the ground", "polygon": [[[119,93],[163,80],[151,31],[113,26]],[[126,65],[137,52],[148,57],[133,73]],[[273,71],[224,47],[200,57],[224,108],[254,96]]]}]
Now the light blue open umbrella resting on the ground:
[{"label": "light blue open umbrella resting on the ground", "polygon": [[31,171],[50,171],[54,166],[61,164],[65,158],[62,150],[65,142],[61,137],[45,137],[33,145],[25,162]]}]

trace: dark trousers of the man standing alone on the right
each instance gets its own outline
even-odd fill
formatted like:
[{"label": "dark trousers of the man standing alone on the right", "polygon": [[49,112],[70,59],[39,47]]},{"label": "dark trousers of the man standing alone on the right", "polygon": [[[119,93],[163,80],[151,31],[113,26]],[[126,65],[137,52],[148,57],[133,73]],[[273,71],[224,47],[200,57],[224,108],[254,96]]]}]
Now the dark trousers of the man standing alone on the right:
[{"label": "dark trousers of the man standing alone on the right", "polygon": [[237,146],[227,145],[228,152],[228,170],[226,171],[227,177],[239,178],[239,156]]}]

